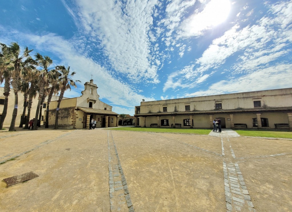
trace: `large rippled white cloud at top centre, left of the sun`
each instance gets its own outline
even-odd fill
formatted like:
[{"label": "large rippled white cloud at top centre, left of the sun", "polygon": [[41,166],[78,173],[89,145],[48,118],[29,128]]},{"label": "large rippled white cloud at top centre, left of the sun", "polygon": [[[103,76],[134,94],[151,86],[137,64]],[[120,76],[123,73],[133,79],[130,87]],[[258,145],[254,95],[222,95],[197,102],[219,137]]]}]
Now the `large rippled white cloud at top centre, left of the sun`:
[{"label": "large rippled white cloud at top centre, left of the sun", "polygon": [[[89,1],[77,2],[79,17],[91,36],[100,40],[108,63],[133,82],[145,79],[158,83],[157,69],[150,51],[155,5],[158,1]],[[122,9],[123,8],[123,9]]]}]

